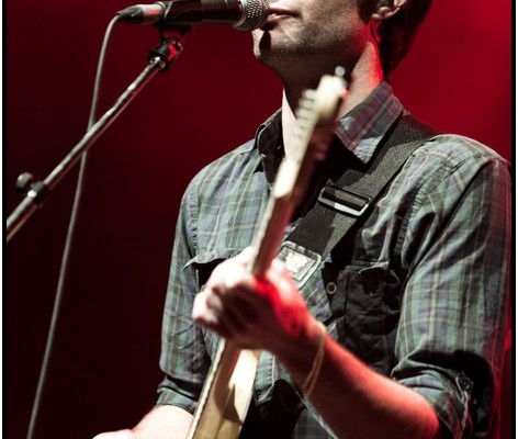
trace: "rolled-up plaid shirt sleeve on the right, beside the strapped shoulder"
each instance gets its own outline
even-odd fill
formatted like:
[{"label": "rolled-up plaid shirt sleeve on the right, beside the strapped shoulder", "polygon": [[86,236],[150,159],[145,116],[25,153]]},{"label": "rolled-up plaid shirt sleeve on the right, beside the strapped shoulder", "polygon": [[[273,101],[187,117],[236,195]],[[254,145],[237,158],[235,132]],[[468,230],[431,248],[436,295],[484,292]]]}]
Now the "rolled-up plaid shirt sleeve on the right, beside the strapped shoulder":
[{"label": "rolled-up plaid shirt sleeve on the right, beside the strapped shoulder", "polygon": [[403,244],[413,262],[393,379],[431,404],[450,437],[477,438],[499,401],[510,176],[496,155],[476,151],[440,169],[420,192]]}]

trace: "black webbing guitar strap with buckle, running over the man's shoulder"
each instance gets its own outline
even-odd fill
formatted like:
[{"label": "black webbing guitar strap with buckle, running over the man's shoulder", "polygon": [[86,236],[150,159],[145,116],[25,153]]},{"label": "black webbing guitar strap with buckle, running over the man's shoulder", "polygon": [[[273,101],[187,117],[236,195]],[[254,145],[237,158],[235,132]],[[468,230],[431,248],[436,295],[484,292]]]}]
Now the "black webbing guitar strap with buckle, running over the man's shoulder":
[{"label": "black webbing guitar strap with buckle, running over the man's shoulder", "polygon": [[315,206],[300,221],[279,251],[293,280],[301,288],[335,246],[350,237],[354,224],[364,221],[376,198],[404,162],[439,131],[410,115],[401,115],[364,169],[347,169],[326,184]]}]

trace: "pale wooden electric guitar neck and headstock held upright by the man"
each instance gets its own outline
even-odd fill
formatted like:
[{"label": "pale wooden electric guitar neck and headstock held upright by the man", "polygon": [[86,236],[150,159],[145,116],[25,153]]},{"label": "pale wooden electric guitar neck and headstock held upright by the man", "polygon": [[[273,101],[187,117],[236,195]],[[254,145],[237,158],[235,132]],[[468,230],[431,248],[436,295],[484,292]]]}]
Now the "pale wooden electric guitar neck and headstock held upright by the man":
[{"label": "pale wooden electric guitar neck and headstock held upright by the man", "polygon": [[[306,90],[296,115],[296,154],[284,159],[263,214],[250,272],[266,272],[281,245],[285,225],[304,198],[315,161],[327,151],[345,90],[341,76],[324,76],[316,90]],[[250,404],[259,350],[240,350],[225,340],[217,346],[188,439],[234,439]]]}]

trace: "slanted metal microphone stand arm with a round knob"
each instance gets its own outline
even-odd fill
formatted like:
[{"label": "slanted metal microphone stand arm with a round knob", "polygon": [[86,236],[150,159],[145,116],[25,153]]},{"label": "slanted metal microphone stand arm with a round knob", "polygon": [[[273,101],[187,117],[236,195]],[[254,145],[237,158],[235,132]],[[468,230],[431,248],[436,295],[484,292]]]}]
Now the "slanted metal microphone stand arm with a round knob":
[{"label": "slanted metal microphone stand arm with a round knob", "polygon": [[180,35],[172,34],[164,37],[160,45],[150,50],[149,64],[143,72],[119,97],[113,106],[88,130],[81,140],[43,181],[34,182],[33,176],[29,172],[24,172],[18,178],[16,189],[25,198],[7,221],[8,243],[44,203],[57,183],[76,165],[81,154],[93,145],[158,71],[167,71],[172,61],[180,56],[184,33],[181,32]]}]

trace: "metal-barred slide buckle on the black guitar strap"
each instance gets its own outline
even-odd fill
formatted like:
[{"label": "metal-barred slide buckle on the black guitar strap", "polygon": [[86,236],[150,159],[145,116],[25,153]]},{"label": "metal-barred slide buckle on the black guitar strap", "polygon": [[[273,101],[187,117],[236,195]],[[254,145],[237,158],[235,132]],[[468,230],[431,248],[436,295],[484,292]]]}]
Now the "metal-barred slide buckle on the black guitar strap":
[{"label": "metal-barred slide buckle on the black guitar strap", "polygon": [[372,196],[330,183],[322,189],[318,201],[338,212],[359,217],[371,206]]}]

